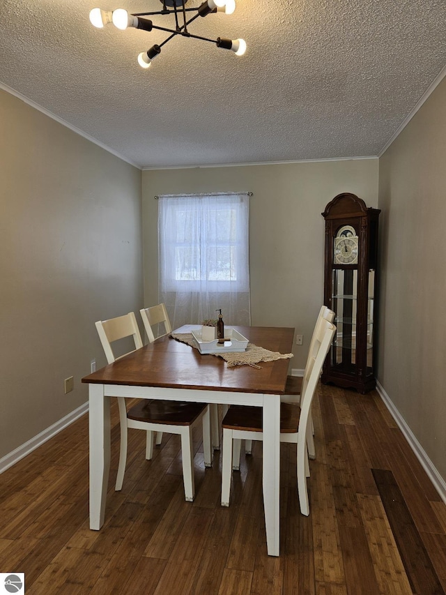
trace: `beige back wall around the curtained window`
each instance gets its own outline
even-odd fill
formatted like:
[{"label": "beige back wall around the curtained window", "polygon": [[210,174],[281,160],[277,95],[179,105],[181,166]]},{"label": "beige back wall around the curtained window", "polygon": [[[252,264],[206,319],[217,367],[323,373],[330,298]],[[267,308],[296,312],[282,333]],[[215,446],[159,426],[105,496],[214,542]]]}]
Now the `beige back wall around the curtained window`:
[{"label": "beige back wall around the curtained window", "polygon": [[[322,211],[341,192],[378,201],[378,160],[213,167],[143,172],[144,299],[157,303],[155,195],[249,191],[252,324],[294,326],[292,368],[303,368],[314,321],[323,302]],[[230,320],[225,320],[230,324]]]}]

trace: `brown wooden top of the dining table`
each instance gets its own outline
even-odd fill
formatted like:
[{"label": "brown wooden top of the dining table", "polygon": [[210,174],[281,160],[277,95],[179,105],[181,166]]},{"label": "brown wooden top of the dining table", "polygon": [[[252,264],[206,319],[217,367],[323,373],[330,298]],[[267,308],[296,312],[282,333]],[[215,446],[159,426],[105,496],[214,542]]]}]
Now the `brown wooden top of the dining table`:
[{"label": "brown wooden top of the dining table", "polygon": [[[259,347],[282,354],[292,350],[294,329],[233,328]],[[166,336],[82,378],[82,382],[278,394],[284,391],[289,362],[289,359],[262,361],[260,370],[252,366],[228,368],[221,357],[202,355],[198,349]]]}]

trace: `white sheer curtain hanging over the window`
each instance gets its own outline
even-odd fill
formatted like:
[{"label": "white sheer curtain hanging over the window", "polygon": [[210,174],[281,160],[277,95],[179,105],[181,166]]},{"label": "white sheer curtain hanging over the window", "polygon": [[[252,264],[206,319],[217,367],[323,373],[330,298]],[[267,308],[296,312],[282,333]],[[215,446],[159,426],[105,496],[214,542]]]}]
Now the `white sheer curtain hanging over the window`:
[{"label": "white sheer curtain hanging over the window", "polygon": [[158,199],[160,302],[173,329],[217,318],[251,324],[249,195]]}]

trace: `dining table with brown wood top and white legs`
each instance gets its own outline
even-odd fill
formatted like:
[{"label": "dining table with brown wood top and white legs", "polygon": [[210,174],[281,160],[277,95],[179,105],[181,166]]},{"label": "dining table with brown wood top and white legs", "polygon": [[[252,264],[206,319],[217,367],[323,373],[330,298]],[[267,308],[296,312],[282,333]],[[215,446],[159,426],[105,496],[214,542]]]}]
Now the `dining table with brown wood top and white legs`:
[{"label": "dining table with brown wood top and white legs", "polygon": [[[280,354],[291,352],[293,328],[232,328],[250,344]],[[186,325],[173,334],[190,329]],[[164,336],[82,378],[89,385],[90,529],[99,530],[105,521],[111,397],[249,405],[263,409],[266,544],[268,555],[279,556],[280,395],[288,369],[289,359],[229,366],[220,356],[201,354],[185,342]]]}]

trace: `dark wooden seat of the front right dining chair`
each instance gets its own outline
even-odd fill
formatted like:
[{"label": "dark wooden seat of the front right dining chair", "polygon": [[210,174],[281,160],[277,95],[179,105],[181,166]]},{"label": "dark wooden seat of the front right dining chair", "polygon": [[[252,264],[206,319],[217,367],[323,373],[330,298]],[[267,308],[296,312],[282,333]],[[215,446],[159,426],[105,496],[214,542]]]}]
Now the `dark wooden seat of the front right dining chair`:
[{"label": "dark wooden seat of the front right dining chair", "polygon": [[[242,407],[233,405],[222,421],[223,428],[229,430],[246,430],[247,432],[263,432],[261,407]],[[300,419],[299,405],[293,403],[280,404],[280,433],[293,434],[298,431]]]}]

